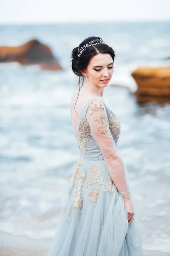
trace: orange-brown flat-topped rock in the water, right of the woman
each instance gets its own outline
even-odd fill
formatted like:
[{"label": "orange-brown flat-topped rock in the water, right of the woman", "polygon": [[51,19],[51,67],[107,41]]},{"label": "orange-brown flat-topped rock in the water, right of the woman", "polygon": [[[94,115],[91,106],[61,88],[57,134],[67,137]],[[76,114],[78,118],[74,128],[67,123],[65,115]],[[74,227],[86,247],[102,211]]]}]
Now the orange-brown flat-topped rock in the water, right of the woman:
[{"label": "orange-brown flat-topped rock in the water, right of the woman", "polygon": [[138,95],[170,97],[170,67],[139,67],[131,73]]}]

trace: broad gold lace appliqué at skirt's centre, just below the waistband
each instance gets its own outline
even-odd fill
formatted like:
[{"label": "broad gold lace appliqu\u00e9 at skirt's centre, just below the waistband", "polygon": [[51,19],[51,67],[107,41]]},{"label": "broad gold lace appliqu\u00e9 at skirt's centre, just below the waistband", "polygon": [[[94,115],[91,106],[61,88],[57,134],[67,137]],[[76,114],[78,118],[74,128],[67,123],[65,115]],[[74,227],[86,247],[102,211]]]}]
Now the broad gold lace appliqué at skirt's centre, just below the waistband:
[{"label": "broad gold lace appliqu\u00e9 at skirt's centre, just below the waistband", "polygon": [[88,188],[93,183],[103,183],[102,177],[100,175],[102,174],[102,170],[100,166],[91,166],[88,171],[88,180],[86,181],[86,187]]}]

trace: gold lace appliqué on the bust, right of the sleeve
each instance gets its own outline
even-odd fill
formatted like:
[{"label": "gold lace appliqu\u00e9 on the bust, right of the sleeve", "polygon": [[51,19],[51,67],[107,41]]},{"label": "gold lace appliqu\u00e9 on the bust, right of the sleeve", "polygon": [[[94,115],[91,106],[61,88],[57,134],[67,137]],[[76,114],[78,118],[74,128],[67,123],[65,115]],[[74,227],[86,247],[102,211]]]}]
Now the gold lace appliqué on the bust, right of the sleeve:
[{"label": "gold lace appliqu\u00e9 on the bust, right of the sleeve", "polygon": [[113,112],[108,116],[108,121],[109,121],[109,128],[111,129],[113,134],[116,134],[116,142],[117,142],[119,139],[120,129],[121,129],[120,121],[117,118],[116,114]]}]

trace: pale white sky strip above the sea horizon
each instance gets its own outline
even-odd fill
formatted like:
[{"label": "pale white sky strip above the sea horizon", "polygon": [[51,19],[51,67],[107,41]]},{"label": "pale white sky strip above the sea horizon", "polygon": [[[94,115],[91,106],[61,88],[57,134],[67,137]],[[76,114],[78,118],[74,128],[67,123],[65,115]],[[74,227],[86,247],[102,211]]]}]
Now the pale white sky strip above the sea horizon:
[{"label": "pale white sky strip above the sea horizon", "polygon": [[0,0],[0,23],[170,21],[170,0]]}]

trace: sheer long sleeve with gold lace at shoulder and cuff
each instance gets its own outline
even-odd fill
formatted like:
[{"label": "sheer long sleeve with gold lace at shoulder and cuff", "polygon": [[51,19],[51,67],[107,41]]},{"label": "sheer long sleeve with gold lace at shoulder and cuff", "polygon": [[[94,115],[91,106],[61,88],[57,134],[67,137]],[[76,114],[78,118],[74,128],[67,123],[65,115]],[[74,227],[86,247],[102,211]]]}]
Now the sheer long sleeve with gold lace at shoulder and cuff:
[{"label": "sheer long sleeve with gold lace at shoulder and cuff", "polygon": [[109,129],[104,102],[100,98],[91,99],[86,112],[86,118],[91,128],[92,136],[105,157],[109,173],[116,188],[124,198],[129,197],[124,164],[118,154]]}]

